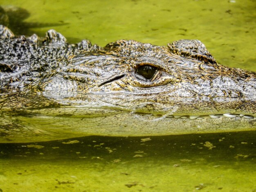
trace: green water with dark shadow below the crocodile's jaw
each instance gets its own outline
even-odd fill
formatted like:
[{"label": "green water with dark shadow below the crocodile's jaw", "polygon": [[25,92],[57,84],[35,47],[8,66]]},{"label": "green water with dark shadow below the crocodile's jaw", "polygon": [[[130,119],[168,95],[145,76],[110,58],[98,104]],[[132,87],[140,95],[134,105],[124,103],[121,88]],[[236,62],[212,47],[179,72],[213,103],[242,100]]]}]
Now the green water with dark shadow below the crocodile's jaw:
[{"label": "green water with dark shadow below the crocodile's jaw", "polygon": [[[146,138],[146,137],[143,137]],[[5,144],[3,191],[256,190],[256,132]],[[212,145],[211,145],[212,144]],[[37,148],[40,149],[37,149]]]}]

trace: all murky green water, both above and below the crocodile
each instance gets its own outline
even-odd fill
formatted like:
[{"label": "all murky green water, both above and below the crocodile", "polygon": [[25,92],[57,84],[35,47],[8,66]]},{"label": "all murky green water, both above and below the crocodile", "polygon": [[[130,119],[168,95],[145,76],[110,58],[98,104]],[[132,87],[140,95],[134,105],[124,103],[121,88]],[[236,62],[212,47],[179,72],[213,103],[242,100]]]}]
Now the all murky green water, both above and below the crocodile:
[{"label": "all murky green water, both above and below the crocodile", "polygon": [[[100,46],[118,39],[154,45],[199,39],[222,65],[256,71],[255,0],[0,4],[27,10],[9,24],[16,34],[55,29],[69,42]],[[143,138],[0,144],[0,191],[256,191],[256,132]]]}]

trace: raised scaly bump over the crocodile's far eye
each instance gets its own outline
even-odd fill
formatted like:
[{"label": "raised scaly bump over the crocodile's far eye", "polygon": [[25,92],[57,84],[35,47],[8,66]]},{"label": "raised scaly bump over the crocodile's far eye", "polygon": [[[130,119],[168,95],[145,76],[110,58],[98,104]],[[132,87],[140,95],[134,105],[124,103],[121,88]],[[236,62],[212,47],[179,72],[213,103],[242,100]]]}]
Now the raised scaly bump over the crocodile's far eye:
[{"label": "raised scaly bump over the crocodile's far eye", "polygon": [[217,63],[200,40],[178,40],[167,46],[173,54],[198,59],[204,63]]}]

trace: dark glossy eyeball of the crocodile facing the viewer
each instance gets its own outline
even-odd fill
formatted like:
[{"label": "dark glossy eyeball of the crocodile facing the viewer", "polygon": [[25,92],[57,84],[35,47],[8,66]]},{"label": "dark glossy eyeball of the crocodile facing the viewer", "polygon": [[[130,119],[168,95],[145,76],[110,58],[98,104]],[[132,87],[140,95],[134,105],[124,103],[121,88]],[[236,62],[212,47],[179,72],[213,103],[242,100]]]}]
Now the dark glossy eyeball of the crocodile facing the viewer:
[{"label": "dark glossy eyeball of the crocodile facing the viewer", "polygon": [[135,71],[135,76],[139,80],[152,80],[157,72],[157,67],[152,65],[141,65]]}]

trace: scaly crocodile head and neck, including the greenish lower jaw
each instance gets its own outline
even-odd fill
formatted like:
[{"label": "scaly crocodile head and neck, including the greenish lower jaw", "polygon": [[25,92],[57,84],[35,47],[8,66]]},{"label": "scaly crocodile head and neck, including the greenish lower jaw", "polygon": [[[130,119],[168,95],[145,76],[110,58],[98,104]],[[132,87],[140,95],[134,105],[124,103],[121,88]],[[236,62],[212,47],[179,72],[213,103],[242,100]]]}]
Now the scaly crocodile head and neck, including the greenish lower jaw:
[{"label": "scaly crocodile head and neck, including the greenish lower jaw", "polygon": [[219,65],[199,40],[102,48],[0,26],[0,109],[0,143],[252,131],[256,74]]}]

